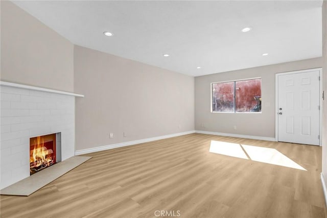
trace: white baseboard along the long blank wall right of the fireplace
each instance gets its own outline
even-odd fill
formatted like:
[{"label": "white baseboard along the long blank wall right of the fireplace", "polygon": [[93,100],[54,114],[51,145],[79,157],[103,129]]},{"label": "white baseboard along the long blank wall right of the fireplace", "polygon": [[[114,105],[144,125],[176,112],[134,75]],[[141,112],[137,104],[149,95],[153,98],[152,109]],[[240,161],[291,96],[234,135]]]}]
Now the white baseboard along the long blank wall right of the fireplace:
[{"label": "white baseboard along the long blank wall right of the fireplace", "polygon": [[118,147],[125,147],[125,146],[145,143],[145,142],[152,142],[152,141],[156,141],[156,140],[160,140],[160,139],[167,139],[167,138],[172,138],[172,137],[176,137],[176,136],[188,135],[188,134],[192,134],[192,133],[195,133],[195,130],[188,131],[188,132],[182,132],[182,133],[170,134],[170,135],[166,135],[166,136],[158,136],[158,137],[153,137],[153,138],[148,138],[148,139],[141,139],[141,140],[135,140],[135,141],[129,141],[129,142],[122,142],[122,143],[118,143],[118,144],[111,144],[111,145],[104,145],[104,146],[100,146],[100,147],[76,150],[75,155],[84,155],[84,154],[89,154],[92,152],[108,150],[108,149],[113,149],[113,148],[118,148]]}]

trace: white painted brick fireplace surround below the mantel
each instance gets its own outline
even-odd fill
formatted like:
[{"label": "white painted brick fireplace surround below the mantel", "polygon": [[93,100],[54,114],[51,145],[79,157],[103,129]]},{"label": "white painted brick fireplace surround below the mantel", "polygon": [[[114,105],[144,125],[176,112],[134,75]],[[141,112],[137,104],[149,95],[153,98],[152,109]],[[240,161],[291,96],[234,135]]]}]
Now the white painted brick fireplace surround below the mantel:
[{"label": "white painted brick fireplace surround below the mantel", "polygon": [[0,86],[0,189],[30,176],[30,138],[61,132],[61,160],[75,155],[75,97]]}]

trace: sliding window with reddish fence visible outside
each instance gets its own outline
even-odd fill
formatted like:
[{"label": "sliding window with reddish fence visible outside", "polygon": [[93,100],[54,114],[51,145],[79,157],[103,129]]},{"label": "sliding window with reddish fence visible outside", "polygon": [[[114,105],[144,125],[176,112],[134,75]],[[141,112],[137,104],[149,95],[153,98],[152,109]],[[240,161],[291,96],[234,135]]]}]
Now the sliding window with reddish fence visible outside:
[{"label": "sliding window with reddish fence visible outside", "polygon": [[212,112],[261,112],[261,79],[212,83]]}]

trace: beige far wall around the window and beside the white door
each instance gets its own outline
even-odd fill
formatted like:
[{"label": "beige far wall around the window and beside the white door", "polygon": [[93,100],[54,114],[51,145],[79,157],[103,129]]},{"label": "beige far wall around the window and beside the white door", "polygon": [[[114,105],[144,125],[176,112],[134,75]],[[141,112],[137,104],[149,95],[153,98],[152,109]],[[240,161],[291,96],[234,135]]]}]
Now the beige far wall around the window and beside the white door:
[{"label": "beige far wall around the window and beside the white door", "polygon": [[[195,129],[275,138],[275,74],[321,66],[322,58],[313,58],[196,77]],[[211,113],[210,83],[255,77],[262,78],[262,113]]]}]

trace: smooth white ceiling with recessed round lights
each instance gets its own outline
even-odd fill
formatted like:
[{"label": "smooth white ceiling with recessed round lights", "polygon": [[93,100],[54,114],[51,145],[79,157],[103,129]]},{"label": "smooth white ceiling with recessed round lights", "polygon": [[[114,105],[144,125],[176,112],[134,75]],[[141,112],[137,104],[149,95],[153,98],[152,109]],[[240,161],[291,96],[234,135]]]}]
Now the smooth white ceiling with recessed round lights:
[{"label": "smooth white ceiling with recessed round lights", "polygon": [[322,0],[14,3],[75,45],[192,76],[321,56]]}]

